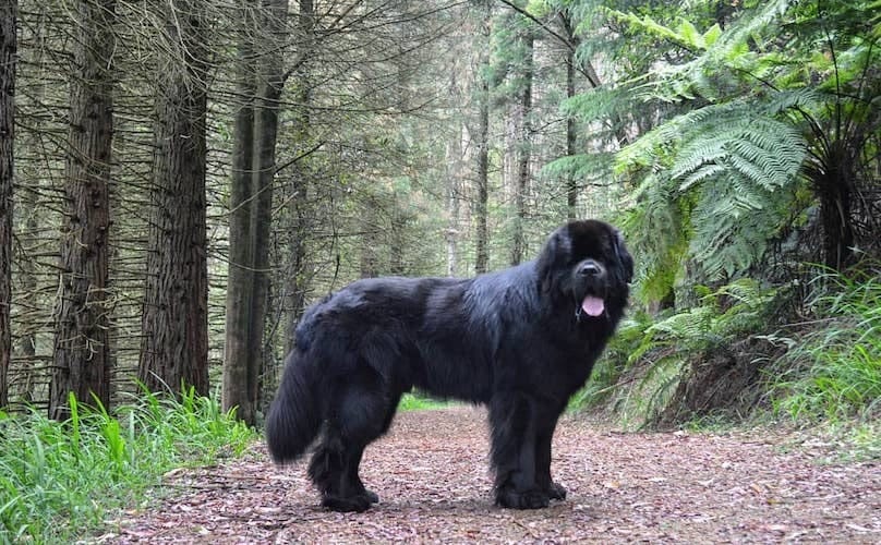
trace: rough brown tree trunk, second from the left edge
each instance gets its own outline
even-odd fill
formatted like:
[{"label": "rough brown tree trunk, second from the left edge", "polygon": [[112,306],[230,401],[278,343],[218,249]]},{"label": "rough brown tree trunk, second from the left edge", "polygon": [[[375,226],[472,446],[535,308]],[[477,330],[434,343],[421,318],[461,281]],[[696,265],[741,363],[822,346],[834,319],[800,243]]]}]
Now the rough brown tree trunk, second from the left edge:
[{"label": "rough brown tree trunk, second from the left edge", "polygon": [[84,0],[71,81],[61,279],[49,416],[70,416],[68,396],[110,405],[107,296],[113,138],[116,0]]}]

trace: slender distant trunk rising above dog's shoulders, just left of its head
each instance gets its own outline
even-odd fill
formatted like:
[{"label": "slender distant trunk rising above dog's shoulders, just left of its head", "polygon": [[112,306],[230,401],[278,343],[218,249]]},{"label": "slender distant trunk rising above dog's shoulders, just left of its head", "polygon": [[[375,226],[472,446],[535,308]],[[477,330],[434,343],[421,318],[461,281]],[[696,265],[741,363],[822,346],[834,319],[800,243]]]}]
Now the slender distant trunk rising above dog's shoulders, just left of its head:
[{"label": "slender distant trunk rising above dog's shoulders, just left of its head", "polygon": [[527,192],[529,191],[529,159],[530,146],[532,137],[532,129],[530,126],[530,117],[532,116],[532,55],[533,55],[533,37],[529,29],[526,29],[521,36],[523,41],[523,68],[520,77],[522,78],[522,88],[520,88],[519,100],[516,107],[516,125],[517,125],[517,143],[515,146],[515,155],[517,156],[517,164],[515,167],[515,183],[514,183],[514,203],[515,203],[515,218],[514,218],[514,241],[511,244],[511,265],[519,265],[523,261],[523,252],[526,251],[526,233],[523,225],[526,223],[527,216]]}]

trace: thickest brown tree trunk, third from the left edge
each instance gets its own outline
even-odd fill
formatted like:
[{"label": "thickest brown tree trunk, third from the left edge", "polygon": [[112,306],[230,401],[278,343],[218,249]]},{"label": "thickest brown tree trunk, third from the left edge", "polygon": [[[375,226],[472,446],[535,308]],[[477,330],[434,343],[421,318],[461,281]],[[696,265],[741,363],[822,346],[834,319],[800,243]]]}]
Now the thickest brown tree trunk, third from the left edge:
[{"label": "thickest brown tree trunk, third from the left edge", "polygon": [[[207,5],[155,4],[160,53],[143,340],[138,378],[152,391],[208,393],[205,118]],[[178,55],[176,55],[178,53]]]}]

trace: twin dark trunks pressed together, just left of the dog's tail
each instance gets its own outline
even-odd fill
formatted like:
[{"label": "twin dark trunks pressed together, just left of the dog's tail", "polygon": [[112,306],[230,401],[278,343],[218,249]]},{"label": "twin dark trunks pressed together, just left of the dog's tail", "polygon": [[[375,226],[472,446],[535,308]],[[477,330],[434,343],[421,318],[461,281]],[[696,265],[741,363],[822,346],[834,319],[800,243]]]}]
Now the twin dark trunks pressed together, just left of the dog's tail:
[{"label": "twin dark trunks pressed together, just left of the dog's tail", "polygon": [[[250,17],[246,17],[246,20]],[[227,352],[224,365],[224,409],[238,407],[237,415],[255,425],[260,408],[269,289],[269,231],[271,227],[275,149],[278,137],[278,102],[283,87],[279,48],[285,43],[287,2],[267,0],[257,11],[260,34],[243,34],[240,93],[254,96],[253,108],[244,105],[237,117],[233,174],[233,211],[230,233],[230,276],[227,291]],[[245,24],[245,32],[252,26]],[[258,46],[251,50],[255,40]],[[254,71],[254,63],[260,69]],[[254,82],[254,83],[251,83]],[[249,122],[248,126],[244,123]],[[242,124],[240,124],[242,123]],[[251,141],[250,148],[248,140]],[[250,154],[245,158],[244,154]],[[241,167],[241,168],[239,168]]]}]

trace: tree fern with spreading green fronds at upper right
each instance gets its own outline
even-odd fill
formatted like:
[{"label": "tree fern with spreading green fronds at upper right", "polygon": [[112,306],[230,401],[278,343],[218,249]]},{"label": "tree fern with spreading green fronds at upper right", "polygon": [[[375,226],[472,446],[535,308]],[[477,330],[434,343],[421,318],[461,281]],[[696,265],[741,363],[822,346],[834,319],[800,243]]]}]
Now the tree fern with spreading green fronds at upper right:
[{"label": "tree fern with spreading green fronds at upper right", "polygon": [[[776,0],[745,4],[722,31],[676,9],[629,9],[605,13],[659,45],[628,84],[659,122],[618,153],[614,173],[639,187],[628,235],[662,233],[640,254],[641,294],[656,301],[686,264],[700,282],[749,274],[816,204],[799,198],[802,186],[822,199],[835,194],[830,184],[854,183],[852,164],[874,156],[879,20],[866,2]],[[592,90],[568,107],[595,116],[620,105],[619,93]]]}]

